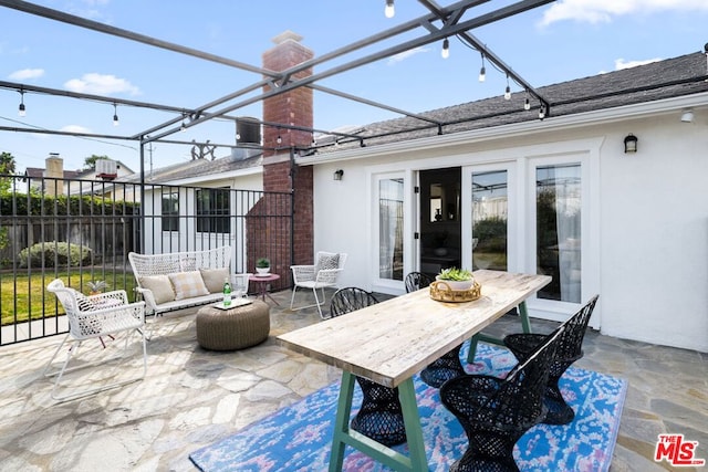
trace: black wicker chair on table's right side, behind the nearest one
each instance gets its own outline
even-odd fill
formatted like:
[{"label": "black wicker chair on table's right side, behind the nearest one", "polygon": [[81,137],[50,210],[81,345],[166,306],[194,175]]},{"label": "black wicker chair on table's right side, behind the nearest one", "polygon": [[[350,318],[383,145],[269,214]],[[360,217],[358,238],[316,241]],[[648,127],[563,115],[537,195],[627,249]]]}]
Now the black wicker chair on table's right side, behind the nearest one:
[{"label": "black wicker chair on table's right side, behind the nearest one", "polygon": [[[583,357],[583,339],[587,331],[587,323],[593,314],[595,304],[600,295],[593,296],[577,313],[568,318],[562,326],[566,329],[559,343],[555,359],[551,365],[551,375],[549,376],[548,386],[543,400],[548,407],[548,413],[544,423],[548,424],[568,424],[575,418],[575,411],[565,402],[561,389],[558,385],[559,379],[565,370],[577,359]],[[544,336],[542,334],[518,333],[510,334],[504,337],[504,346],[522,361],[533,352],[533,349],[542,343]]]}]

